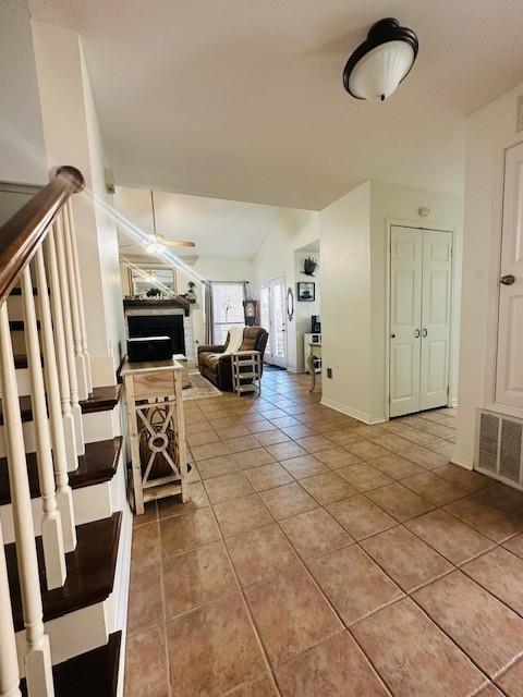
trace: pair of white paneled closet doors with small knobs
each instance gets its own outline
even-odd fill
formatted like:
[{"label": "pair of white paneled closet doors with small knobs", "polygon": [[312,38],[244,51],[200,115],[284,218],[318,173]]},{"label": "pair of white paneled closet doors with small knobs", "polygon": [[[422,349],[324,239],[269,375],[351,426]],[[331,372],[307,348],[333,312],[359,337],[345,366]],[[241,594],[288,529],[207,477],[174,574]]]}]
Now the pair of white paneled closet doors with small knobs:
[{"label": "pair of white paneled closet doors with small knobs", "polygon": [[446,406],[452,233],[391,228],[390,416]]}]

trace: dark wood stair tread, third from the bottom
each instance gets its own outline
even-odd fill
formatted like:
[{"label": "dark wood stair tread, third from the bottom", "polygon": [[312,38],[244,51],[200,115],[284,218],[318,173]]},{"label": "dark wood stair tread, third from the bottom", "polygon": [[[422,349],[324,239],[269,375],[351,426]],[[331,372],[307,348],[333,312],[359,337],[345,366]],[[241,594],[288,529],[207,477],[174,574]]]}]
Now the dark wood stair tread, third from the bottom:
[{"label": "dark wood stair tread, third from the bottom", "polygon": [[[121,449],[121,436],[109,440],[99,440],[95,443],[86,443],[85,455],[78,456],[78,468],[69,473],[71,488],[81,489],[82,487],[89,487],[112,479],[118,469]],[[36,499],[40,496],[36,453],[27,453],[25,460],[29,476],[31,498]],[[7,503],[11,503],[8,461],[7,457],[0,457],[0,505]]]}]

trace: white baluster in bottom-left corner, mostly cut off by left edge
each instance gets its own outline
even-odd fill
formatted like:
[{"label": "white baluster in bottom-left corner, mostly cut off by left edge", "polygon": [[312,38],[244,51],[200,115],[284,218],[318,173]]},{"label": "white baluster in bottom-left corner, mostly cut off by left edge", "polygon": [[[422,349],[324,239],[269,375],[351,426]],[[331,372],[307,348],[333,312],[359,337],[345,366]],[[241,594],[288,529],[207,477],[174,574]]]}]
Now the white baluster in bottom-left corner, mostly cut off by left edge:
[{"label": "white baluster in bottom-left corner, mostly cut off by left edge", "polygon": [[11,598],[9,597],[8,567],[3,553],[3,534],[0,523],[0,697],[20,697],[19,659],[14,638]]}]

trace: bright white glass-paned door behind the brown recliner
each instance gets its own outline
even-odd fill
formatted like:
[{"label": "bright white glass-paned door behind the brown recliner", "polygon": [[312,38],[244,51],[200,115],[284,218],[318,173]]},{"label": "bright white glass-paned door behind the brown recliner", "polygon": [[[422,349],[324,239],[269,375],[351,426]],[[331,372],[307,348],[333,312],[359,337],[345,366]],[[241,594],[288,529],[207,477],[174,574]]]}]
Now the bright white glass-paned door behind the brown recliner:
[{"label": "bright white glass-paned door behind the brown recliner", "polygon": [[285,280],[277,278],[260,288],[260,322],[269,332],[266,360],[287,368]]}]

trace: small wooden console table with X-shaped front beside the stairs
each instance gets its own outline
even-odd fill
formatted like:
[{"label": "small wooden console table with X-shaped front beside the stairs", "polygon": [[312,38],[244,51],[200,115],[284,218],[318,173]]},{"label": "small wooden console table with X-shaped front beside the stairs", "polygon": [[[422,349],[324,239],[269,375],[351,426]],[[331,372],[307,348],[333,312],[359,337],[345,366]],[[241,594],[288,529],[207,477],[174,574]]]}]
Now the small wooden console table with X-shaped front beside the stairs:
[{"label": "small wooden console table with X-shaped front beside the stairs", "polygon": [[125,383],[134,501],[144,503],[181,494],[188,501],[182,381],[184,367],[174,359],[129,363]]}]

